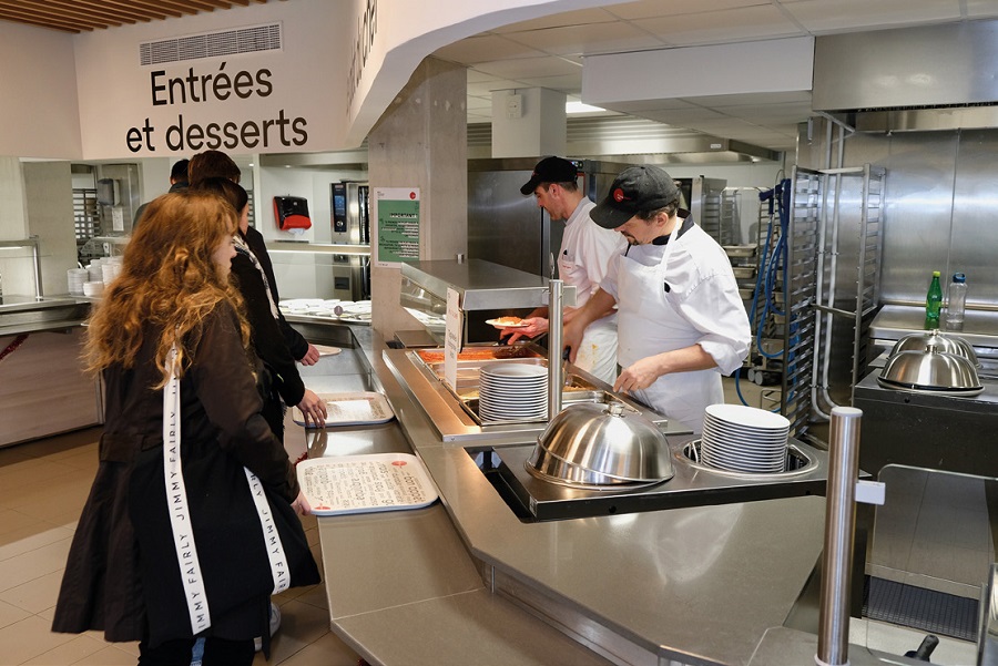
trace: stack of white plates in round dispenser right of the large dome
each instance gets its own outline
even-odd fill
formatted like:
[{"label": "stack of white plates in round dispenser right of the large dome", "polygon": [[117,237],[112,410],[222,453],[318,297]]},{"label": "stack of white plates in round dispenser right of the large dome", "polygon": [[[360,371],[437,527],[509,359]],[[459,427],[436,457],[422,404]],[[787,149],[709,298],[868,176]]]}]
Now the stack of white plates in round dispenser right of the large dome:
[{"label": "stack of white plates in round dispenser right of the large dome", "polygon": [[764,409],[711,404],[704,410],[701,460],[733,472],[774,474],[786,470],[790,421]]}]

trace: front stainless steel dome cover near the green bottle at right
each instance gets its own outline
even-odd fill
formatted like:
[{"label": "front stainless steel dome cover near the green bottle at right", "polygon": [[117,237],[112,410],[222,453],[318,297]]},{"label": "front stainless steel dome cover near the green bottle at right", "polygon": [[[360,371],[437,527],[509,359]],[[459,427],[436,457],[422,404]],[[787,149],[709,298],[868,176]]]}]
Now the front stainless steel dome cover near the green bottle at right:
[{"label": "front stainless steel dome cover near the green bottle at right", "polygon": [[976,396],[984,391],[970,359],[939,351],[929,341],[925,351],[900,351],[887,359],[877,381],[889,388]]}]

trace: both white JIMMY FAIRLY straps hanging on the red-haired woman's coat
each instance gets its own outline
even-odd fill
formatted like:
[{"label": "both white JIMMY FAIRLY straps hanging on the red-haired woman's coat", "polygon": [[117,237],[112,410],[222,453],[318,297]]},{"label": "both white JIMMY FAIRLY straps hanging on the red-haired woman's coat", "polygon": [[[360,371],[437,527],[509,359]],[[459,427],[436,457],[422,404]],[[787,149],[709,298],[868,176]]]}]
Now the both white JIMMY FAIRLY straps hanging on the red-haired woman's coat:
[{"label": "both white JIMMY FAIRLY straps hanging on the red-haired woman's coat", "polygon": [[[201,573],[201,562],[197,560],[197,546],[194,544],[191,511],[187,505],[187,491],[181,470],[181,400],[180,380],[174,371],[175,362],[176,347],[170,350],[166,358],[170,381],[163,388],[163,474],[166,483],[173,544],[176,547],[176,561],[180,564],[181,582],[184,586],[184,598],[191,616],[191,631],[196,635],[212,626],[212,616],[204,592],[204,576]],[[291,571],[284,554],[284,545],[277,534],[277,526],[274,524],[274,516],[271,514],[263,484],[256,474],[246,468],[243,468],[243,471],[246,473],[249,492],[259,515],[271,574],[274,578],[273,594],[277,594],[291,585]]]}]

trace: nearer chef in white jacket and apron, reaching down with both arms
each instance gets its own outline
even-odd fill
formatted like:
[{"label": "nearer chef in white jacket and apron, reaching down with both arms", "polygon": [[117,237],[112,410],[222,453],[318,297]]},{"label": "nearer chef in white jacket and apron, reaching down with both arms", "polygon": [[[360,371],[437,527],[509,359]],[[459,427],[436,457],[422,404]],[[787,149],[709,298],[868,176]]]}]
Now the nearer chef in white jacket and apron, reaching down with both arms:
[{"label": "nearer chef in white jacket and apron, reaching down with both arms", "polygon": [[724,402],[721,376],[741,367],[752,334],[731,260],[680,202],[655,166],[617,177],[590,215],[630,247],[566,326],[564,342],[574,354],[588,322],[617,303],[622,371],[613,389],[700,433],[704,408]]}]

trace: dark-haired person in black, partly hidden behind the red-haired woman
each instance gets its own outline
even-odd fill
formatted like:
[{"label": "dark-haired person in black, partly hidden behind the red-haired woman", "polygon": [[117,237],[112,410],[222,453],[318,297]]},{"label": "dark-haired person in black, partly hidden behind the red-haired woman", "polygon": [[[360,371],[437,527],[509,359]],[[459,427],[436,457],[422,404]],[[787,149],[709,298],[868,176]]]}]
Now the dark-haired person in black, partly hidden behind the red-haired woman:
[{"label": "dark-haired person in black, partly hidden behind the red-haired woman", "polygon": [[271,430],[277,439],[284,440],[284,404],[297,406],[308,421],[325,422],[326,403],[315,392],[306,389],[302,381],[295,359],[281,332],[281,311],[268,288],[267,275],[246,243],[246,232],[249,229],[248,194],[242,185],[222,177],[198,181],[191,191],[221,195],[238,215],[232,275],[235,287],[246,303],[253,347],[271,375],[272,386],[265,396],[263,411]]}]

